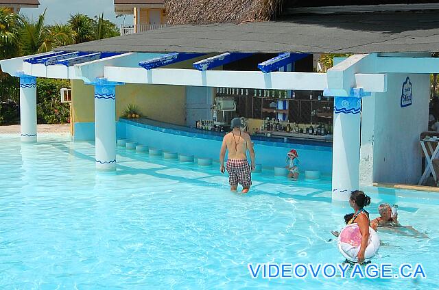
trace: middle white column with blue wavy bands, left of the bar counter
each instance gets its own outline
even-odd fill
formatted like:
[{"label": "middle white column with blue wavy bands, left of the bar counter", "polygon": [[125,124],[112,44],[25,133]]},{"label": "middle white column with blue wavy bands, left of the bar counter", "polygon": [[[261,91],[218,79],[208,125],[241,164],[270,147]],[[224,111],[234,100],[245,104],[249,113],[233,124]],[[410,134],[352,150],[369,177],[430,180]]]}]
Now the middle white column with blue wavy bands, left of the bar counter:
[{"label": "middle white column with blue wavy bands, left of the bar counter", "polygon": [[95,83],[95,160],[98,170],[116,170],[116,87]]}]

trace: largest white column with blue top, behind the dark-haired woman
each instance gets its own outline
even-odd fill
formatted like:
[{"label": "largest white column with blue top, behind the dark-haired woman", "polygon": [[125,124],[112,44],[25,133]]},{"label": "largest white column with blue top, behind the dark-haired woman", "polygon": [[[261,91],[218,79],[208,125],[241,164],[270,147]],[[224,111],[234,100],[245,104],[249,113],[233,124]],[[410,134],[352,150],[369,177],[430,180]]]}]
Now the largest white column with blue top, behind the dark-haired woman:
[{"label": "largest white column with blue top, behind the dark-haired woman", "polygon": [[335,97],[332,199],[347,201],[359,187],[361,98]]}]

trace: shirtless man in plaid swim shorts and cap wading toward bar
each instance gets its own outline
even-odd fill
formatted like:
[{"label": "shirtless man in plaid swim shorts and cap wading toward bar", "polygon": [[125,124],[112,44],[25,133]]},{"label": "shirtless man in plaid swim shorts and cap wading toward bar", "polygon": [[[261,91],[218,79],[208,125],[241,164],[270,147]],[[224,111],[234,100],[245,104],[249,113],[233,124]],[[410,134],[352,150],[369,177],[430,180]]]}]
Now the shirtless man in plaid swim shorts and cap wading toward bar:
[{"label": "shirtless man in plaid swim shorts and cap wading toward bar", "polygon": [[[254,150],[250,135],[241,131],[241,119],[232,120],[233,131],[226,134],[222,140],[219,153],[219,170],[224,173],[227,169],[228,183],[230,190],[235,192],[238,183],[242,185],[242,193],[246,194],[252,185],[252,173],[254,170]],[[224,157],[228,150],[226,168],[224,168]],[[248,166],[247,150],[250,152],[251,166]]]}]

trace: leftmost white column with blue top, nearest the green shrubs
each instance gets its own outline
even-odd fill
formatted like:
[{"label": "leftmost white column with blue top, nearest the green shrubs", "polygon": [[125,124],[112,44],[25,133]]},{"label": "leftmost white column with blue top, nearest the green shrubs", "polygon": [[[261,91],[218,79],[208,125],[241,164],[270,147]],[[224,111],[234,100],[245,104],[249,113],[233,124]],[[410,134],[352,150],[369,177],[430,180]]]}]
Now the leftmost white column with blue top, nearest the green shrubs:
[{"label": "leftmost white column with blue top, nearest the green shrubs", "polygon": [[22,142],[36,142],[36,77],[20,76],[20,128]]}]

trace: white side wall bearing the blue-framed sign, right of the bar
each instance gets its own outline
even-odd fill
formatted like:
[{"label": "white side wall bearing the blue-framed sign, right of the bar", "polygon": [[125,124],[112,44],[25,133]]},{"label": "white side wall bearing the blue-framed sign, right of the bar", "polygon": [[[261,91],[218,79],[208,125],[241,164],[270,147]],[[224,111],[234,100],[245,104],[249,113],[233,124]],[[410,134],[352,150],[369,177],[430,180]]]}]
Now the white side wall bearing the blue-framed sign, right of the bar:
[{"label": "white side wall bearing the blue-framed sign, right of the bar", "polygon": [[[403,83],[407,77],[412,83],[413,101],[412,105],[401,107]],[[372,104],[364,106],[364,116],[367,117],[362,124],[367,124],[371,114],[368,110],[372,107]],[[375,94],[373,133],[365,126],[362,140],[365,145],[362,158],[372,158],[374,182],[418,183],[423,157],[419,135],[427,130],[428,107],[429,75],[388,74],[388,92]],[[368,143],[372,144],[372,156]],[[365,163],[361,168],[370,170],[370,164]]]}]

